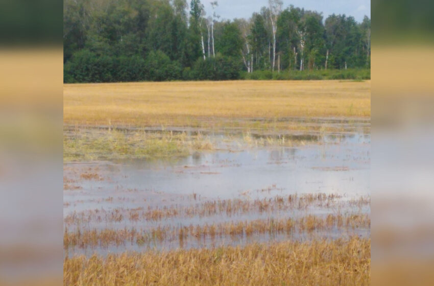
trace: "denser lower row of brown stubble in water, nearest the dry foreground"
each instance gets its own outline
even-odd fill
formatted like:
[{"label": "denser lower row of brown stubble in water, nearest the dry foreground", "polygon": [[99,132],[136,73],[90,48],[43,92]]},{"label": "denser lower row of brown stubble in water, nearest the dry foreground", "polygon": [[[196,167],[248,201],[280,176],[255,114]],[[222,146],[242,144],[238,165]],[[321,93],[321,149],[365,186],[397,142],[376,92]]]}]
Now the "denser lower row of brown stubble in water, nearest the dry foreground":
[{"label": "denser lower row of brown stubble in water, nearest the dry foreground", "polygon": [[250,221],[230,221],[205,225],[158,226],[147,230],[132,228],[123,229],[86,229],[77,227],[73,231],[65,228],[64,247],[108,247],[131,244],[163,243],[179,240],[180,246],[187,239],[216,238],[249,238],[257,234],[275,236],[279,234],[298,233],[312,234],[321,231],[337,231],[342,229],[370,228],[371,219],[368,214],[328,214],[314,216],[309,214],[300,218],[258,219]]}]

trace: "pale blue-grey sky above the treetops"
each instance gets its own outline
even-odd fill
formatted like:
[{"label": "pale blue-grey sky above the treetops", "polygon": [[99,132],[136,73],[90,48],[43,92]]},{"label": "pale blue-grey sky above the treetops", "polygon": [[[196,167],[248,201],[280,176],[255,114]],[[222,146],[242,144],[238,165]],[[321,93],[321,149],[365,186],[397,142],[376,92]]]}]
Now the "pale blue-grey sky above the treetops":
[{"label": "pale blue-grey sky above the treetops", "polygon": [[[207,16],[212,15],[211,1],[213,0],[201,0]],[[218,0],[218,2],[219,6],[216,7],[215,12],[224,19],[247,19],[253,12],[259,12],[261,7],[268,6],[268,0]],[[333,13],[353,16],[358,22],[361,22],[365,15],[371,17],[371,0],[282,0],[282,2],[283,9],[292,4],[305,10],[322,12],[324,19]]]}]

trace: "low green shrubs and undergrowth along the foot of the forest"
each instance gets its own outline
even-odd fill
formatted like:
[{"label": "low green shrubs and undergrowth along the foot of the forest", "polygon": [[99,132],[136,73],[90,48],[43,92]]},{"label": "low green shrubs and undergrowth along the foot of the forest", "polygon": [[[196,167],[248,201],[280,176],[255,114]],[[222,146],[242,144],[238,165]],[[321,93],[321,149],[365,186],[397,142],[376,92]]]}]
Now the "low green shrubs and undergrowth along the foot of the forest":
[{"label": "low green shrubs and undergrowth along the foot of the forest", "polygon": [[370,69],[319,69],[319,70],[254,70],[242,71],[237,59],[217,55],[199,58],[192,68],[182,68],[161,51],[152,51],[146,58],[98,56],[84,49],[74,53],[64,64],[63,81],[76,82],[127,82],[167,80],[369,80]]}]

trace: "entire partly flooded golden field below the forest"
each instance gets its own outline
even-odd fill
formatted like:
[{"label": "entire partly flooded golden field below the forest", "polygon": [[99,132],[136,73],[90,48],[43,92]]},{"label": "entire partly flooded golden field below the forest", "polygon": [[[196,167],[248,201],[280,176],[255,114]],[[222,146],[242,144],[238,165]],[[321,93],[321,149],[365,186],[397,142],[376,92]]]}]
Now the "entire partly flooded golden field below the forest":
[{"label": "entire partly flooded golden field below the forest", "polygon": [[369,284],[370,81],[64,89],[65,285]]}]

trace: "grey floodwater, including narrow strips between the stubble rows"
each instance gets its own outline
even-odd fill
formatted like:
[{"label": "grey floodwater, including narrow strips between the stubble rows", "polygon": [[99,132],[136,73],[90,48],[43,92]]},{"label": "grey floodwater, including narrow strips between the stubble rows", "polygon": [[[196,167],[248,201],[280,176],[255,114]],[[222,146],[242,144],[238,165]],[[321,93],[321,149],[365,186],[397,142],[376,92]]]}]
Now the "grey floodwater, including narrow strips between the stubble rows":
[{"label": "grey floodwater, including narrow strips between the stubble rows", "polygon": [[[369,196],[370,134],[350,132],[324,135],[320,139],[297,147],[255,147],[233,142],[233,138],[219,135],[225,145],[238,145],[212,152],[196,152],[185,158],[172,160],[118,160],[103,162],[66,163],[64,177],[72,186],[64,190],[64,216],[74,212],[102,209],[163,208],[197,205],[200,202],[226,199],[255,200],[292,194],[337,194],[343,201]],[[213,138],[215,139],[215,138]],[[231,141],[232,140],[232,141]],[[223,144],[222,144],[223,145]],[[98,174],[86,178],[84,173]],[[88,221],[69,229],[122,229],[140,230],[158,226],[188,226],[246,221],[269,218],[301,217],[306,214],[336,212],[369,213],[369,205],[362,207],[321,208],[312,206],[303,210],[248,212],[237,216],[174,217],[158,221],[118,222]],[[310,235],[310,236],[309,236]],[[292,233],[256,235],[246,237],[220,237],[217,240],[186,240],[138,246],[125,243],[105,249],[69,248],[69,253],[98,251],[122,252],[145,248],[203,247],[247,242],[308,239],[312,234]],[[369,235],[369,229],[332,230],[318,232],[321,237],[342,235]]]}]

